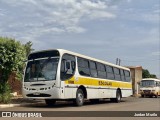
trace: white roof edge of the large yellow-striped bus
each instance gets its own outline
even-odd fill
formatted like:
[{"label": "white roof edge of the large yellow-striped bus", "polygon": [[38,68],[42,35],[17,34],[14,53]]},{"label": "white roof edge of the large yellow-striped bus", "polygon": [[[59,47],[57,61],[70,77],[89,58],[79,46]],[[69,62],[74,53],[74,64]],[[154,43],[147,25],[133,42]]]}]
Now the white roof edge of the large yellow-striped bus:
[{"label": "white roof edge of the large yellow-striped bus", "polygon": [[61,54],[68,53],[68,54],[72,54],[72,55],[75,55],[75,56],[78,56],[78,57],[82,57],[82,58],[85,58],[85,59],[89,59],[89,60],[97,61],[97,62],[106,64],[106,65],[110,65],[110,66],[113,66],[113,67],[117,67],[117,68],[121,68],[121,69],[125,69],[125,70],[130,70],[129,68],[126,68],[126,67],[123,67],[123,66],[115,65],[113,63],[109,63],[109,62],[106,62],[106,61],[103,61],[103,60],[99,60],[99,59],[96,59],[96,58],[93,58],[93,57],[89,57],[89,56],[86,56],[86,55],[82,55],[82,54],[72,52],[72,51],[69,51],[69,50],[64,50],[64,49],[41,50],[41,51],[32,52],[31,54],[38,53],[38,52],[44,52],[44,51],[52,51],[52,50],[58,50]]}]

